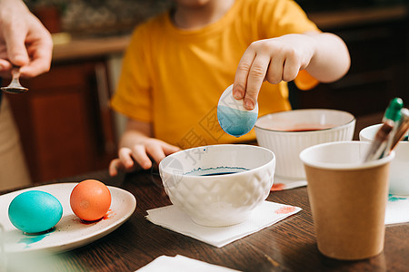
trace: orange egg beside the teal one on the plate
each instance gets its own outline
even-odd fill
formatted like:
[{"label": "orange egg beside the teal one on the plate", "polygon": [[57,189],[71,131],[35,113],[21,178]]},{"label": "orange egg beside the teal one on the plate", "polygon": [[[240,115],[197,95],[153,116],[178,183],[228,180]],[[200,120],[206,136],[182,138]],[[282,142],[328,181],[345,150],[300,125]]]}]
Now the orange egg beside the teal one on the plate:
[{"label": "orange egg beside the teal one on the plate", "polygon": [[98,180],[78,183],[70,196],[71,209],[85,221],[102,219],[111,206],[111,192]]}]

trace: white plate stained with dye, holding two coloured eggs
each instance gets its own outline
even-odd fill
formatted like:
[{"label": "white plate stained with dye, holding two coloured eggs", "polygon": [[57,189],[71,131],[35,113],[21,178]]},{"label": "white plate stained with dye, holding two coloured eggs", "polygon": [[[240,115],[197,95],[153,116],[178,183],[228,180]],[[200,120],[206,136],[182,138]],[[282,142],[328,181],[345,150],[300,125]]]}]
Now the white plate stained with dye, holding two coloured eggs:
[{"label": "white plate stained with dye, holding two coloured eggs", "polygon": [[[5,230],[5,252],[26,252],[39,249],[65,251],[79,248],[102,238],[125,223],[134,213],[136,199],[124,189],[108,186],[111,192],[111,207],[104,219],[85,224],[75,216],[70,207],[70,195],[78,183],[55,183],[17,190],[0,196],[0,224]],[[63,217],[55,225],[55,230],[37,236],[25,235],[15,228],[8,219],[8,206],[20,193],[27,190],[42,190],[55,196],[63,206]],[[0,239],[1,241],[1,239]]]}]

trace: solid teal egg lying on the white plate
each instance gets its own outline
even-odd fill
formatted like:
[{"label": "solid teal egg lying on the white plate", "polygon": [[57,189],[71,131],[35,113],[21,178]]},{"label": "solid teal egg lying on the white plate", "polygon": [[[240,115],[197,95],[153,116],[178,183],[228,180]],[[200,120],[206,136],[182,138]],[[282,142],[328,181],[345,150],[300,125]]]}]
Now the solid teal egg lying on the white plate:
[{"label": "solid teal egg lying on the white plate", "polygon": [[30,190],[15,197],[8,207],[8,218],[26,233],[43,232],[53,228],[63,216],[63,206],[53,195]]}]

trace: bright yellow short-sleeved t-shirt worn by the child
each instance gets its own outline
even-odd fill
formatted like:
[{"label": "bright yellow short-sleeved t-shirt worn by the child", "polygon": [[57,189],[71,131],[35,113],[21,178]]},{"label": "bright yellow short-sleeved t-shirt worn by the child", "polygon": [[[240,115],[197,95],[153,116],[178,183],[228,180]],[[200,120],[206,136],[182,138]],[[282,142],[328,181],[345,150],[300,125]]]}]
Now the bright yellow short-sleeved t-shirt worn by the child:
[{"label": "bright yellow short-sleeved t-shirt worn by the child", "polygon": [[[136,27],[112,107],[152,122],[155,138],[181,148],[254,140],[254,130],[235,138],[217,121],[217,102],[234,82],[244,51],[257,40],[315,30],[289,0],[236,0],[219,21],[199,30],[178,29],[168,12],[158,15]],[[290,110],[286,83],[264,83],[258,103],[260,116]]]}]

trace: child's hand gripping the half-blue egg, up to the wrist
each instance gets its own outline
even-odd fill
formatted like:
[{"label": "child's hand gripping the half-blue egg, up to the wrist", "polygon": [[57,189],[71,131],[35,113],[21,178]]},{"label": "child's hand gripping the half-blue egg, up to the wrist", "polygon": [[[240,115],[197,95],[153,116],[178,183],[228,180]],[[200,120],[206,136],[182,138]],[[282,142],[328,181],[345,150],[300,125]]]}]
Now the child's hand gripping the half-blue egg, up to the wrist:
[{"label": "child's hand gripping the half-blue egg, up to the wrist", "polygon": [[234,98],[244,99],[244,108],[253,110],[262,83],[294,80],[313,58],[315,44],[306,34],[286,34],[250,44],[235,73]]}]

